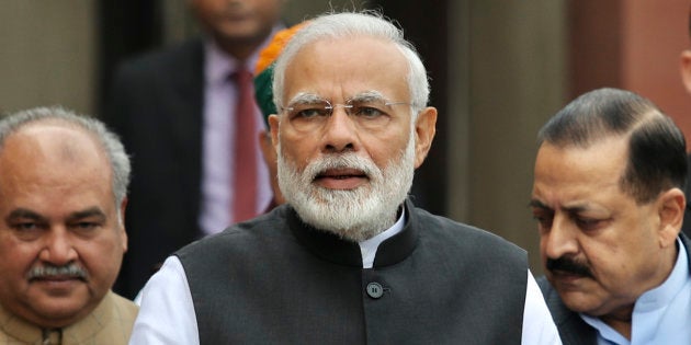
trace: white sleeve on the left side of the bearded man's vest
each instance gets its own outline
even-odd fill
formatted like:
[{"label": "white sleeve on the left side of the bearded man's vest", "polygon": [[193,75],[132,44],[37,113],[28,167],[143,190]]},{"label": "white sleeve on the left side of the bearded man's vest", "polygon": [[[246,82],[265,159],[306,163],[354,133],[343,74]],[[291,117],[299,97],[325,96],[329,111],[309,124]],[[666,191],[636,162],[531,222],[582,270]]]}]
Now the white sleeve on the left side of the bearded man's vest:
[{"label": "white sleeve on the left side of the bearded man's vest", "polygon": [[178,256],[169,256],[141,290],[131,345],[199,345],[192,294]]}]

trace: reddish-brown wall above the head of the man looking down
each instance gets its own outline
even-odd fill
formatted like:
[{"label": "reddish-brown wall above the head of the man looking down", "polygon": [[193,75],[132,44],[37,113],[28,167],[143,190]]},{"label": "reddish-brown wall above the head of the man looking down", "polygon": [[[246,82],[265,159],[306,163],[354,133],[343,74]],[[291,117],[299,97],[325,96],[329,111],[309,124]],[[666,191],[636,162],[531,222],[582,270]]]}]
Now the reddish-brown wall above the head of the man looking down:
[{"label": "reddish-brown wall above the head of the man looking down", "polygon": [[680,53],[691,48],[689,9],[688,0],[570,1],[569,96],[603,87],[634,91],[691,138],[691,96],[679,73]]}]

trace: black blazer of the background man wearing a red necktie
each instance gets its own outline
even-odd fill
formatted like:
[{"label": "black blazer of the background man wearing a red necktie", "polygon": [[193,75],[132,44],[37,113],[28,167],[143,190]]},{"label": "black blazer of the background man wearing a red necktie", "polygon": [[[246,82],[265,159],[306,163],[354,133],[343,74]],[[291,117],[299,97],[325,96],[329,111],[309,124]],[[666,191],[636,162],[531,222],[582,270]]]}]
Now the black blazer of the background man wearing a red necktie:
[{"label": "black blazer of the background man wearing a red necktie", "polygon": [[122,65],[103,114],[132,156],[129,249],[115,291],[134,297],[166,256],[199,238],[204,99],[201,38]]}]

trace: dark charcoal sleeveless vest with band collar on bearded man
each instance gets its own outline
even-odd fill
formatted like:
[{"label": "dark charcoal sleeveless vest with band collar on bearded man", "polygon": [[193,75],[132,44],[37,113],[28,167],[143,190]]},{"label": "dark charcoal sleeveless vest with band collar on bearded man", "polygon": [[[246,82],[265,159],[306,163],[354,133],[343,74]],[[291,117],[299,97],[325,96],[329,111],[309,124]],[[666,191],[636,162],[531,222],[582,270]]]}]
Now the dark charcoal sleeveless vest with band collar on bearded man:
[{"label": "dark charcoal sleeveless vest with band collar on bearded man", "polygon": [[520,344],[526,253],[406,209],[369,269],[290,206],[180,250],[201,344]]}]

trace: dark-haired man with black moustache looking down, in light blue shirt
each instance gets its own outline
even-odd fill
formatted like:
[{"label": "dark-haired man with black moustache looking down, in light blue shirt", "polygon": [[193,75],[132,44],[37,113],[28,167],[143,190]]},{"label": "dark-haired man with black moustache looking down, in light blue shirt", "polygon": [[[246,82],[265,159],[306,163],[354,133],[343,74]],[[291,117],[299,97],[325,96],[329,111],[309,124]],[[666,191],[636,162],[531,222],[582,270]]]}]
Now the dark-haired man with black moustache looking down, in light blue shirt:
[{"label": "dark-haired man with black moustache looking down, in light blue shirt", "polygon": [[539,280],[564,344],[691,344],[681,130],[650,101],[600,89],[539,143]]}]

